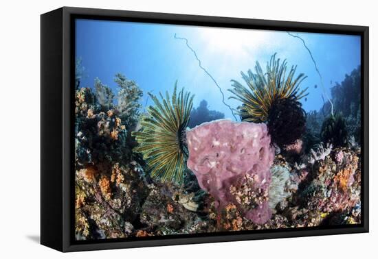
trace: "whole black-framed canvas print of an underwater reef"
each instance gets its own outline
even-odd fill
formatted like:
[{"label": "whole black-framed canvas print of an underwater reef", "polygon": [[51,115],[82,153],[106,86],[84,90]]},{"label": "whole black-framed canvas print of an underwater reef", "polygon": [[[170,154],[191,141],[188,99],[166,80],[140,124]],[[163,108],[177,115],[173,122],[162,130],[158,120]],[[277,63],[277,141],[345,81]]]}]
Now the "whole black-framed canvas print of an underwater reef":
[{"label": "whole black-framed canvas print of an underwater reef", "polygon": [[368,232],[368,27],[41,16],[41,243]]}]

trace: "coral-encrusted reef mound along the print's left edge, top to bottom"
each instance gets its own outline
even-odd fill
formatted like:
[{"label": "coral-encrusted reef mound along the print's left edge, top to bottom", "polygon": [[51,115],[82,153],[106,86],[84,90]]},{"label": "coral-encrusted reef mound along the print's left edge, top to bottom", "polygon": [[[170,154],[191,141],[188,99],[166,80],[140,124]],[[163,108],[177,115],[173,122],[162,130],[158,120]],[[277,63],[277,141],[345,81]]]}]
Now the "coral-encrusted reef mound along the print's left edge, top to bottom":
[{"label": "coral-encrusted reef mound along the print's left edge, top to bottom", "polygon": [[142,201],[148,195],[142,167],[131,152],[135,140],[128,131],[134,127],[142,91],[136,84],[130,86],[128,95],[135,99],[135,107],[124,121],[124,103],[113,102],[111,88],[95,79],[94,89],[76,90],[76,238],[126,237],[133,233],[133,224],[139,224]]}]

